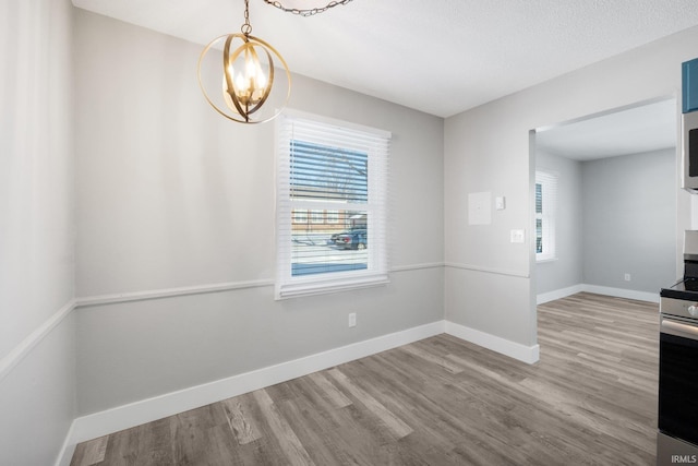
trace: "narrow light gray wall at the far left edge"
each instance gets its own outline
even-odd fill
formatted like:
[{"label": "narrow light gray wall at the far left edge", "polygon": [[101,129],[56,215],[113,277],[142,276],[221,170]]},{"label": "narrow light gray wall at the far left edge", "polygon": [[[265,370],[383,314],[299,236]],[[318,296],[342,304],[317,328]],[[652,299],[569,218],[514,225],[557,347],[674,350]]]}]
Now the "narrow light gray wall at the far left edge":
[{"label": "narrow light gray wall at the far left edge", "polygon": [[2,465],[53,464],[75,417],[73,319],[51,321],[74,297],[71,25],[68,0],[0,2]]}]

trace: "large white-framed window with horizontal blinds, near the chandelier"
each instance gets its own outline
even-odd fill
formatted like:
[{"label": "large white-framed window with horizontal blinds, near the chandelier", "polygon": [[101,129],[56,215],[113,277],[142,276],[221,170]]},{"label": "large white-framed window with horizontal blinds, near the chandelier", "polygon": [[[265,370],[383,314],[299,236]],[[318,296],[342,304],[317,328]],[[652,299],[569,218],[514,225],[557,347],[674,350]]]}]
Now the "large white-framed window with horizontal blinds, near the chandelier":
[{"label": "large white-framed window with horizontal blinds, near the chandelier", "polygon": [[276,124],[276,298],[387,283],[390,134],[289,110]]}]

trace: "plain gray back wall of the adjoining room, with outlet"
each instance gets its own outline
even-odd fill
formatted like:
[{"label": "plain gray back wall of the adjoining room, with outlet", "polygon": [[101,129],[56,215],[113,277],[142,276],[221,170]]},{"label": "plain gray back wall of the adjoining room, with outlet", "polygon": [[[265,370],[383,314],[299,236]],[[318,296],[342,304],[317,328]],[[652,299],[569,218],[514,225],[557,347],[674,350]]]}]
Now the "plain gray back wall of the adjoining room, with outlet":
[{"label": "plain gray back wall of the adjoining room, with outlet", "polygon": [[675,280],[675,174],[674,148],[582,164],[586,284],[659,292]]}]

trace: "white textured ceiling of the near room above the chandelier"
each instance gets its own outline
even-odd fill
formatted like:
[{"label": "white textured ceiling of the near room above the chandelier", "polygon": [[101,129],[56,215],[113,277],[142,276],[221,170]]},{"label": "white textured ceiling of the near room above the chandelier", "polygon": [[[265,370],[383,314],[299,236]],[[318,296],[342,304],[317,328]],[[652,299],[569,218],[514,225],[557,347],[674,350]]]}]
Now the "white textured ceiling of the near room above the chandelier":
[{"label": "white textured ceiling of the near room above the chandelier", "polygon": [[[281,0],[289,7],[328,0]],[[73,0],[202,46],[243,0]],[[250,0],[292,72],[449,117],[698,25],[696,0],[353,0],[312,17]]]}]

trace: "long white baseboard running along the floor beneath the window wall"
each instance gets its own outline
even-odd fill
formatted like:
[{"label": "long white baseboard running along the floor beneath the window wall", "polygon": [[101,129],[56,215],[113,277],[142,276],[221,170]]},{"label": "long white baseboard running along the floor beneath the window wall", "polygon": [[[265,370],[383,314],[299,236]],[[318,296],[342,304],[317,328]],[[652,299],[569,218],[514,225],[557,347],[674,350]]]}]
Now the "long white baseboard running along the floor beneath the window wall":
[{"label": "long white baseboard running along the floor beneath the window wall", "polygon": [[[421,325],[389,335],[328,351],[296,359],[252,372],[167,393],[100,413],[83,416],[73,421],[70,439],[63,446],[65,453],[86,440],[95,439],[119,430],[172,416],[200,406],[249,393],[280,382],[306,375],[337,365],[349,362],[398,346],[418,342],[444,333],[444,321]],[[59,465],[70,464],[59,458]]]}]

